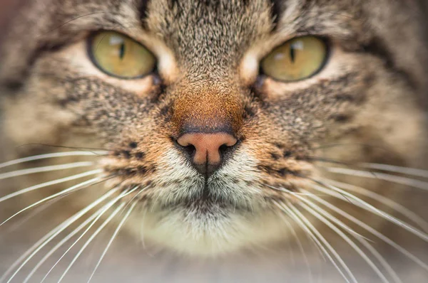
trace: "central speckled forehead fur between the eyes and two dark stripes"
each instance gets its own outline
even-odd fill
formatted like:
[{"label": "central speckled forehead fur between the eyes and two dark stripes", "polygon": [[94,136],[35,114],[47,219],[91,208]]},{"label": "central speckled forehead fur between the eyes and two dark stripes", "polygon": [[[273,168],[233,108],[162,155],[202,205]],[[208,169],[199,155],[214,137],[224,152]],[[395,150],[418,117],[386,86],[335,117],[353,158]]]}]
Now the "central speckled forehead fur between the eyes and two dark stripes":
[{"label": "central speckled forehead fur between the eyes and two dark stripes", "polygon": [[222,76],[236,70],[245,50],[272,29],[272,2],[151,1],[143,24],[161,34],[189,73]]}]

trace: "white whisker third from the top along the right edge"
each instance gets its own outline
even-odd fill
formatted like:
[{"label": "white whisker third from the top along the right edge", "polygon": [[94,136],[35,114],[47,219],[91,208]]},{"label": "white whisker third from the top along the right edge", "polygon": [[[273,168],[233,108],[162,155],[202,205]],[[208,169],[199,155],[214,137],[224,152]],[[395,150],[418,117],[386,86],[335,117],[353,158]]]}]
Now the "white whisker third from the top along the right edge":
[{"label": "white whisker third from the top along the right edge", "polygon": [[392,201],[389,198],[380,195],[379,193],[374,193],[373,191],[367,190],[367,188],[362,188],[359,186],[354,186],[348,183],[342,183],[327,178],[322,178],[322,180],[326,181],[327,183],[331,183],[333,186],[338,186],[340,188],[344,188],[347,191],[353,191],[355,193],[359,193],[362,196],[372,198],[374,201],[379,201],[379,203],[383,203],[384,205],[389,206],[398,213],[401,213],[402,215],[406,216],[407,218],[409,218],[409,220],[412,220],[415,224],[419,225],[420,228],[428,232],[428,222],[425,221],[422,217],[414,213],[412,210],[409,210],[405,206],[400,205],[399,203],[396,203],[395,201]]}]

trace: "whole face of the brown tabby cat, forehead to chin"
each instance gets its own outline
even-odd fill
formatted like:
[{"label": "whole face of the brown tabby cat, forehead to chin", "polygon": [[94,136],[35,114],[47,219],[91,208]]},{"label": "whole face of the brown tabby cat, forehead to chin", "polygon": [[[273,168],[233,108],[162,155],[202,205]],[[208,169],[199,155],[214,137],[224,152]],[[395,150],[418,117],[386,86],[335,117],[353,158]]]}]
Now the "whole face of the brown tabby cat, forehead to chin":
[{"label": "whole face of the brown tabby cat, forehead to chin", "polygon": [[427,145],[415,3],[49,2],[4,44],[4,132],[106,149],[98,193],[162,246],[286,239],[282,205],[328,188],[320,161],[417,165]]}]

